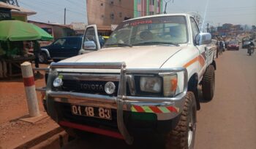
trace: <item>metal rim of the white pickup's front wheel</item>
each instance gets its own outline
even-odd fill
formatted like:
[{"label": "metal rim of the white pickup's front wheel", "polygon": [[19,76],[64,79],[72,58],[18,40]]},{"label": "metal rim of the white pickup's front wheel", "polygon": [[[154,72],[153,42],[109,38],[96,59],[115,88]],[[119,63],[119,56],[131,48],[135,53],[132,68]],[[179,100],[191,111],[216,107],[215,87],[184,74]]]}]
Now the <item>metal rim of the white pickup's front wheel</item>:
[{"label": "metal rim of the white pickup's front wheel", "polygon": [[193,112],[189,113],[189,129],[188,129],[188,136],[187,136],[187,143],[189,148],[193,148],[194,144],[194,137],[195,137],[195,114]]}]

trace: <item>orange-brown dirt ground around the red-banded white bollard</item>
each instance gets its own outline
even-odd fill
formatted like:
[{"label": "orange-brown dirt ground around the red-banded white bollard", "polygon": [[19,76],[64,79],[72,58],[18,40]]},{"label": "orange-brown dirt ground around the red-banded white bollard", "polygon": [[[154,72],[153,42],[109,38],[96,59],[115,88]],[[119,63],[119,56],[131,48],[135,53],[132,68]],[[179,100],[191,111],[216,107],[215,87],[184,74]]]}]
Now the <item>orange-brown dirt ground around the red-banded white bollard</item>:
[{"label": "orange-brown dirt ground around the red-banded white bollard", "polygon": [[[47,65],[40,65],[46,68]],[[44,78],[35,79],[36,86],[45,86]],[[44,111],[42,99],[37,92],[39,110]],[[45,118],[36,124],[19,121],[29,114],[23,78],[15,77],[0,80],[0,148],[12,148],[41,132],[47,132],[57,126],[50,118]]]}]

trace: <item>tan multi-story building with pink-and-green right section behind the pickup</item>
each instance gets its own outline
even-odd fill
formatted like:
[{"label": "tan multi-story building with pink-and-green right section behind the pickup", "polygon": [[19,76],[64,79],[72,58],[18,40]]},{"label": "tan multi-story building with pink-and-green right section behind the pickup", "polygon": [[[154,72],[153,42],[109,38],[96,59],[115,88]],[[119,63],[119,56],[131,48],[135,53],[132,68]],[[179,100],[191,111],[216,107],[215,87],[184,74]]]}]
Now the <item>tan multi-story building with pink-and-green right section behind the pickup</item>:
[{"label": "tan multi-story building with pink-and-green right section behind the pickup", "polygon": [[162,0],[87,0],[88,24],[96,24],[99,34],[107,35],[125,17],[162,13]]}]

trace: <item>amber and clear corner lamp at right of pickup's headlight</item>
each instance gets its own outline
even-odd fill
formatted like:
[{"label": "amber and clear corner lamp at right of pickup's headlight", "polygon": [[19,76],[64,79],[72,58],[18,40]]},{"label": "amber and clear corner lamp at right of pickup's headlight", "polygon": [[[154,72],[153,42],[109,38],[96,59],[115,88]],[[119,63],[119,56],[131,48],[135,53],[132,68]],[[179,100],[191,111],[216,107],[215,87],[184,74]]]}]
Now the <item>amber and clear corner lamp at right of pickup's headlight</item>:
[{"label": "amber and clear corner lamp at right of pickup's headlight", "polygon": [[177,74],[173,74],[170,76],[163,76],[163,81],[164,81],[164,96],[165,97],[170,97],[173,96],[176,93],[176,89],[178,86],[178,78]]}]

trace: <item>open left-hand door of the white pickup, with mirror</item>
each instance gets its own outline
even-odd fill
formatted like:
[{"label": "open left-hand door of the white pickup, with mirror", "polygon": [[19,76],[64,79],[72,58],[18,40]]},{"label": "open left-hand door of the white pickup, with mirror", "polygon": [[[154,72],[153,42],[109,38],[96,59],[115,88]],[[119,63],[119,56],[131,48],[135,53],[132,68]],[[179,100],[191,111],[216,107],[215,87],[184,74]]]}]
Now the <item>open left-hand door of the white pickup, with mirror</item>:
[{"label": "open left-hand door of the white pickup, with mirror", "polygon": [[100,48],[97,26],[88,25],[83,36],[83,49],[80,50],[80,54],[97,51]]}]

